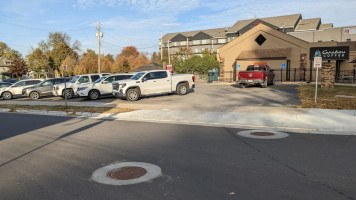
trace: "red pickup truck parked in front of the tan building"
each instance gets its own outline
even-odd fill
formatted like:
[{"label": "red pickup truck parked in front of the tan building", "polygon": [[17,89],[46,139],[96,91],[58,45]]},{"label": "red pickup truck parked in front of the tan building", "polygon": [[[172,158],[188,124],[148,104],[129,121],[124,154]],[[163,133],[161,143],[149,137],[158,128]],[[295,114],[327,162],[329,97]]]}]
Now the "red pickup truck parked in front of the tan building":
[{"label": "red pickup truck parked in front of the tan building", "polygon": [[239,72],[237,84],[241,88],[256,84],[266,88],[268,84],[274,85],[273,71],[268,65],[249,65],[246,71]]}]

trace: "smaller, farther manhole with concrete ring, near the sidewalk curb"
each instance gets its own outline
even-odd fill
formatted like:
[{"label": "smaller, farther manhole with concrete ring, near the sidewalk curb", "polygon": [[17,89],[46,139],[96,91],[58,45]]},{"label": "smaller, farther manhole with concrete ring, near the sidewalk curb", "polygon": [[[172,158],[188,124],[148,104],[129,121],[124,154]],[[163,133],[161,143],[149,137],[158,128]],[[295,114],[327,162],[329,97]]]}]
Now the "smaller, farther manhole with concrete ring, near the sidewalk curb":
[{"label": "smaller, farther manhole with concrete ring, near the sidewalk curb", "polygon": [[287,133],[274,130],[247,130],[237,132],[237,135],[255,139],[281,139],[289,136]]}]

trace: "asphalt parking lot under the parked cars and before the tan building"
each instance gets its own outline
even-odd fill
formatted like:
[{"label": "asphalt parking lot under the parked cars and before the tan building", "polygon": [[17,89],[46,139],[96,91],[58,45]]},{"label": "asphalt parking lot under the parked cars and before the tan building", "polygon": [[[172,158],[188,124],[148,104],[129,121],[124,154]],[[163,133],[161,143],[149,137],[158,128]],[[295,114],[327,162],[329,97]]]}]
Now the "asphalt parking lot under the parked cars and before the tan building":
[{"label": "asphalt parking lot under the parked cars and before the tan building", "polygon": [[[197,82],[194,90],[187,95],[176,94],[143,97],[139,101],[129,102],[125,99],[106,97],[97,101],[84,98],[70,99],[77,105],[93,105],[96,103],[105,106],[119,106],[135,109],[169,109],[206,112],[234,112],[250,107],[282,107],[298,105],[298,85],[274,85],[268,88],[248,87],[239,88],[234,83],[206,83]],[[1,100],[1,104],[32,101],[30,98],[16,98],[10,101]],[[43,97],[37,101],[63,103],[61,97]],[[42,102],[42,103],[41,103]],[[102,105],[104,105],[102,104]]]}]

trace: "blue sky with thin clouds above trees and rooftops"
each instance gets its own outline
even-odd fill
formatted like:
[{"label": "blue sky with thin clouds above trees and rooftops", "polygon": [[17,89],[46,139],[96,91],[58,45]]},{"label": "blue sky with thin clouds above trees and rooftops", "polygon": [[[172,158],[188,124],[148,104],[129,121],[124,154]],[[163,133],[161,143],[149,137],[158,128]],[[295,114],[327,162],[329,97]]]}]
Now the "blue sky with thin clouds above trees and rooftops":
[{"label": "blue sky with thin clouds above trees and rooftops", "polygon": [[119,54],[134,45],[149,56],[158,51],[161,32],[232,26],[238,20],[302,14],[334,27],[356,25],[356,0],[0,0],[0,41],[24,56],[49,32],[66,32],[82,51]]}]

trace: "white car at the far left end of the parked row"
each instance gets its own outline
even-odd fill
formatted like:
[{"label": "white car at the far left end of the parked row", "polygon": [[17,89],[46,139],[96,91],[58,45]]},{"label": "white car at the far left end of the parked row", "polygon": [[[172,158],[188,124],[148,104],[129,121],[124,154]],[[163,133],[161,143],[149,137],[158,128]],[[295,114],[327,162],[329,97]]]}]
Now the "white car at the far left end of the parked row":
[{"label": "white car at the far left end of the parked row", "polygon": [[12,99],[14,96],[22,96],[22,89],[36,85],[41,81],[42,79],[27,79],[18,81],[9,87],[1,88],[0,96],[5,100]]}]

